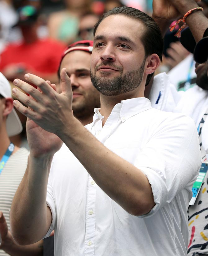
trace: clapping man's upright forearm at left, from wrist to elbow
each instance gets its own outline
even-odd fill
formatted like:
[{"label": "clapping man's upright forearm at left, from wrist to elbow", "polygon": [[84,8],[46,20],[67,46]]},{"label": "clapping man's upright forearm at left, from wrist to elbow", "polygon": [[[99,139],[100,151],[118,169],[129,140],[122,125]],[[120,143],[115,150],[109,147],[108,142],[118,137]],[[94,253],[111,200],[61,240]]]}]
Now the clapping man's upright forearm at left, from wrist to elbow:
[{"label": "clapping man's upright forearm at left, from wrist to elbow", "polygon": [[52,217],[46,206],[47,181],[52,158],[29,156],[25,175],[14,196],[11,211],[11,233],[17,243],[28,245],[43,238]]}]

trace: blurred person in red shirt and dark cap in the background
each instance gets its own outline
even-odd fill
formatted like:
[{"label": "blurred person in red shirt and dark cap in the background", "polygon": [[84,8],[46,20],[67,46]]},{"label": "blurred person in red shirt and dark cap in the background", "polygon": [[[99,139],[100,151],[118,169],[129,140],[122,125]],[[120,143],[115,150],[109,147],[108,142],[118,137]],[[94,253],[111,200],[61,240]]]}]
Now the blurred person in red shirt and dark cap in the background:
[{"label": "blurred person in red shirt and dark cap in the background", "polygon": [[15,77],[23,79],[25,72],[32,72],[57,82],[59,58],[66,46],[52,39],[38,38],[38,11],[35,7],[24,6],[18,14],[17,25],[24,39],[4,49],[0,55],[0,71],[11,81]]}]

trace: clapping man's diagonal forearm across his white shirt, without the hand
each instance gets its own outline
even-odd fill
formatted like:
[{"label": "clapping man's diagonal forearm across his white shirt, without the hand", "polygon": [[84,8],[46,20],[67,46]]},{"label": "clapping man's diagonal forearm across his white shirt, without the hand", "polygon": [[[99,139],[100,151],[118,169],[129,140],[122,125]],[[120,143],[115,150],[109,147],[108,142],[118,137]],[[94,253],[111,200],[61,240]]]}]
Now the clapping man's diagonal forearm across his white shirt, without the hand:
[{"label": "clapping man's diagonal forearm across his white shirt, without the hand", "polygon": [[58,136],[107,195],[133,215],[154,207],[151,185],[142,171],[107,149],[78,120],[66,127]]}]

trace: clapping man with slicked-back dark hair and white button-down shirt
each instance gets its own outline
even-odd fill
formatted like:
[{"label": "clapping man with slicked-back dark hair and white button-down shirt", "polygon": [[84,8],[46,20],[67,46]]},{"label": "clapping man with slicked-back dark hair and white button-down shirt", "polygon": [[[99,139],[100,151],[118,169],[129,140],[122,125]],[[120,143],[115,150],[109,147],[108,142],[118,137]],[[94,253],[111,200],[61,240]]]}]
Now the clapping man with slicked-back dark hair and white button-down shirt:
[{"label": "clapping man with slicked-back dark hair and white button-down shirt", "polygon": [[[14,81],[33,98],[13,89],[32,108],[14,102],[30,118],[31,151],[11,207],[13,235],[26,244],[32,242],[27,237],[34,241],[55,228],[57,255],[186,255],[187,208],[200,150],[190,118],[152,109],[144,98],[146,80],[162,57],[160,30],[141,11],[120,7],[108,12],[94,33],[91,79],[101,108],[88,126],[73,116],[66,69],[61,70],[61,94],[32,74],[25,78],[42,93]],[[51,133],[34,121],[65,142],[52,165],[61,144],[55,135],[49,140]],[[23,221],[29,228],[23,230]]]}]

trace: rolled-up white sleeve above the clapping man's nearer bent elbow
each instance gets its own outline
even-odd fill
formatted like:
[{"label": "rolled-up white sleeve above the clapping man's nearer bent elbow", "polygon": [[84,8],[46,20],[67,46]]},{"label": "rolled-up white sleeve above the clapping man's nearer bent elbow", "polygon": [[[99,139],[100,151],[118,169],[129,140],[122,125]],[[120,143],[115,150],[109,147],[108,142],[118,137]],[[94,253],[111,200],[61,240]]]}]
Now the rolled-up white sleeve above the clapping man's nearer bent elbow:
[{"label": "rolled-up white sleeve above the clapping man's nearer bent elbow", "polygon": [[155,206],[145,215],[154,215],[165,203],[186,189],[191,199],[191,187],[198,176],[201,154],[194,121],[186,116],[176,116],[169,126],[159,131],[141,150],[134,165],[140,169],[151,185]]}]

